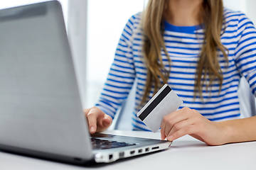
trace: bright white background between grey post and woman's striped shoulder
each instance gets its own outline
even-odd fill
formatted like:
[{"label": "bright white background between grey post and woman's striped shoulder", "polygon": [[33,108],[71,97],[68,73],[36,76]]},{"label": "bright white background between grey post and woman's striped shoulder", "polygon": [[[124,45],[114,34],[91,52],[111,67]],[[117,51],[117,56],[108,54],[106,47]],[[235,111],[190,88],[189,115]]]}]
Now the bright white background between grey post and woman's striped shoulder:
[{"label": "bright white background between grey post and woman's striped shoulder", "polygon": [[128,19],[143,11],[147,0],[87,0],[87,103],[95,105]]}]

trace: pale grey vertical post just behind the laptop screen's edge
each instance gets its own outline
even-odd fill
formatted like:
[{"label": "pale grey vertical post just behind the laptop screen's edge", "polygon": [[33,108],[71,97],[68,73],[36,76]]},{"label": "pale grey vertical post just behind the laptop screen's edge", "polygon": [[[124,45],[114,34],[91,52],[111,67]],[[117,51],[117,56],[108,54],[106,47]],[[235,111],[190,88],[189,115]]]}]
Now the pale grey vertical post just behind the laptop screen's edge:
[{"label": "pale grey vertical post just behind the laptop screen's edge", "polygon": [[68,39],[70,42],[78,87],[85,108],[87,103],[87,0],[68,2]]}]

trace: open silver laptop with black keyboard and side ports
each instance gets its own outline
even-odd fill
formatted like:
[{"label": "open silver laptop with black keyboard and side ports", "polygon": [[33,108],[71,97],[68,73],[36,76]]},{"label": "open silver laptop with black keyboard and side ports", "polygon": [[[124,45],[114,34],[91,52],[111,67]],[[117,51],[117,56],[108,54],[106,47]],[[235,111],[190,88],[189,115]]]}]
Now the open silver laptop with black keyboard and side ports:
[{"label": "open silver laptop with black keyboard and side ports", "polygon": [[60,162],[114,162],[171,142],[90,135],[58,1],[0,10],[0,149]]}]

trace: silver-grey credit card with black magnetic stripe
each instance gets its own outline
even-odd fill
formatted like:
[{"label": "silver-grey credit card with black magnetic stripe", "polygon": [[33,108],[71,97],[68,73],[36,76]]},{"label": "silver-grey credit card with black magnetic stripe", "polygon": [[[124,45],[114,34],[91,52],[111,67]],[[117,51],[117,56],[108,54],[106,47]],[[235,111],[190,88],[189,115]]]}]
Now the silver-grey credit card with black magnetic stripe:
[{"label": "silver-grey credit card with black magnetic stripe", "polygon": [[164,116],[176,111],[183,101],[179,98],[168,84],[164,84],[148,103],[137,113],[142,122],[152,132],[161,127]]}]

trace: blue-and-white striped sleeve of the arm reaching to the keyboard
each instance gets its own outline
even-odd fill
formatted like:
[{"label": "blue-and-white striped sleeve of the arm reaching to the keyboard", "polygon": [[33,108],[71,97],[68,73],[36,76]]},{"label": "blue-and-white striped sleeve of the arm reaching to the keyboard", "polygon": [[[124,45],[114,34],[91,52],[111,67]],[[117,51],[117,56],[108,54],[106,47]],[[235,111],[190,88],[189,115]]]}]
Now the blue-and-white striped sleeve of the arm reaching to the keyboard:
[{"label": "blue-and-white striped sleeve of the arm reaching to the keyboard", "polygon": [[114,55],[114,62],[107,76],[100,100],[96,106],[114,118],[119,106],[127,98],[135,79],[132,55],[132,34],[135,17],[129,18]]}]

